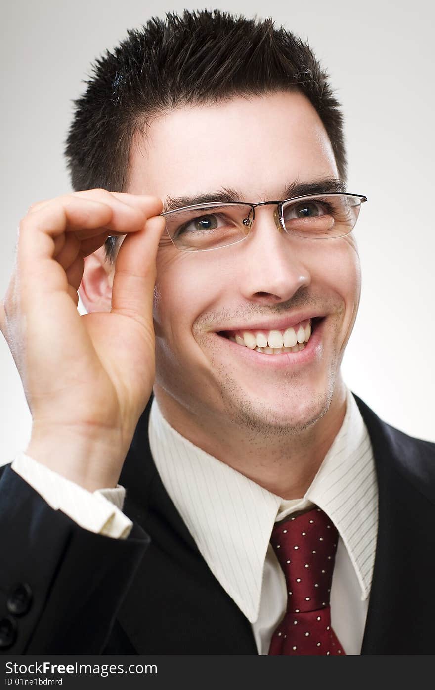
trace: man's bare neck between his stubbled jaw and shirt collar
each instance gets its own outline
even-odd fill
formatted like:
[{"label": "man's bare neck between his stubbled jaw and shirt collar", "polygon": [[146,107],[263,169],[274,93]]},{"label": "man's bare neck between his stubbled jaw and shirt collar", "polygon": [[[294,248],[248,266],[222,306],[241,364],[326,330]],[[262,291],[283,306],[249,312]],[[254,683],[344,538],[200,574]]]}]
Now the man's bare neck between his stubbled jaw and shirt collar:
[{"label": "man's bare neck between his stubbled jaw and shirt collar", "polygon": [[[309,488],[327,451],[343,424],[346,392],[336,385],[327,411],[312,426],[298,433],[258,433],[230,420],[192,414],[154,386],[154,395],[165,420],[183,437],[267,491],[286,500],[301,498]],[[249,453],[246,449],[249,448]]]}]

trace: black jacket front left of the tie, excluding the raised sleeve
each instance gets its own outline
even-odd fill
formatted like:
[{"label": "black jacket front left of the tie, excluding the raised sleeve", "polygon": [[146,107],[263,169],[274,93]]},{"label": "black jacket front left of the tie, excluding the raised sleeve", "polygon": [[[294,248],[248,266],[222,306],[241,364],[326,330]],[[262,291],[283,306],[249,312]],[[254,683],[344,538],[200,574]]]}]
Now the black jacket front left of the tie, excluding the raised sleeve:
[{"label": "black jacket front left of the tie, excluding the raised sleeve", "polygon": [[151,402],[120,479],[124,512],[151,537],[121,607],[121,627],[140,654],[256,654],[250,622],[214,578],[156,471]]}]

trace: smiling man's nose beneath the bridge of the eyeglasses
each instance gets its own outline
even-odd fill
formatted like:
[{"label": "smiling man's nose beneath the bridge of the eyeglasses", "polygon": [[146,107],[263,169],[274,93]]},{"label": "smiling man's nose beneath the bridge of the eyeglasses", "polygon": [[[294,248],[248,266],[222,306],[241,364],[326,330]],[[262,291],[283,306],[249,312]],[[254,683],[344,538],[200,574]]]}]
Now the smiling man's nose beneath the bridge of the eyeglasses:
[{"label": "smiling man's nose beneath the bridge of the eyeglasses", "polygon": [[303,242],[283,231],[273,206],[256,208],[250,235],[241,243],[243,296],[259,304],[276,304],[309,286],[311,275],[307,252],[301,251]]}]

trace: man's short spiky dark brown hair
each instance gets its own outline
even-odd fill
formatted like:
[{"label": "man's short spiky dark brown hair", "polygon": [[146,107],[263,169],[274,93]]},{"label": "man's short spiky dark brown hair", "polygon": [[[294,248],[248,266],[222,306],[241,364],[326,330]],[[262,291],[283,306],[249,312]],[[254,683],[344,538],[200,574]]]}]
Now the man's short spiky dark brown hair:
[{"label": "man's short spiky dark brown hair", "polygon": [[[74,101],[65,148],[72,186],[124,191],[132,137],[159,112],[294,89],[316,108],[345,179],[343,119],[328,79],[308,43],[272,19],[220,10],[152,17],[95,61]],[[117,237],[105,243],[110,262],[118,245]]]}]

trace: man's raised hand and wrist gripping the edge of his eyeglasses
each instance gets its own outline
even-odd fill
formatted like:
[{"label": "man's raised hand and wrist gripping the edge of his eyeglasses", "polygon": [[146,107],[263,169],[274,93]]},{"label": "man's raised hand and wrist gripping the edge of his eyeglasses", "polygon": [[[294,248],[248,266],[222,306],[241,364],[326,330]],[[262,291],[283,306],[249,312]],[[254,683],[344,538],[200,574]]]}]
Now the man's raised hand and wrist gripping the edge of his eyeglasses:
[{"label": "man's raised hand and wrist gripping the edge of his eyeglasses", "polygon": [[[116,486],[152,391],[161,208],[94,189],[34,204],[19,226],[0,329],[32,413],[26,453],[89,491]],[[109,235],[125,235],[112,310],[79,315],[83,257]]]}]

